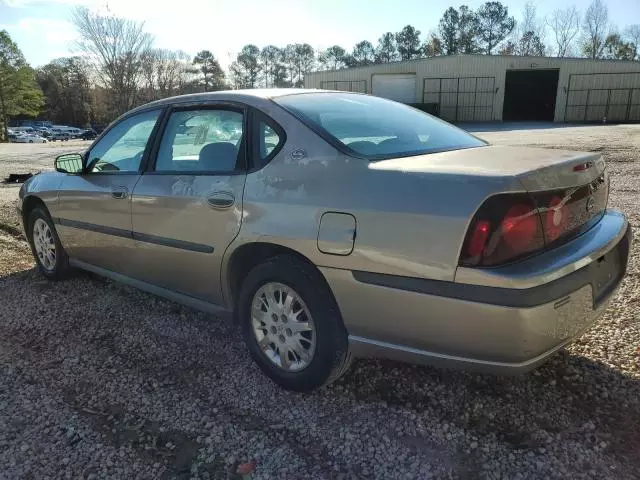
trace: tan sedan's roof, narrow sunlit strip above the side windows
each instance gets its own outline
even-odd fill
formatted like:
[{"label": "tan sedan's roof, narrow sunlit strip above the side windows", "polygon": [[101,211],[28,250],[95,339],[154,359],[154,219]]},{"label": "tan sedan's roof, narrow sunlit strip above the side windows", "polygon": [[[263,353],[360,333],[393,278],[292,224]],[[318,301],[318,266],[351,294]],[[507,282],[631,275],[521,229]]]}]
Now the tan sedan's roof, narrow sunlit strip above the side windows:
[{"label": "tan sedan's roof, narrow sunlit strip above the side windows", "polygon": [[321,90],[314,88],[252,88],[245,90],[221,90],[218,92],[207,93],[192,93],[189,95],[178,95],[175,97],[164,98],[162,100],[156,100],[151,103],[141,105],[126,115],[131,113],[146,110],[148,108],[162,107],[165,105],[175,105],[180,103],[198,103],[198,102],[214,102],[214,101],[237,101],[252,103],[252,100],[256,99],[271,99],[277,97],[283,97],[285,95],[299,95],[303,93],[349,93],[338,92],[335,90]]}]

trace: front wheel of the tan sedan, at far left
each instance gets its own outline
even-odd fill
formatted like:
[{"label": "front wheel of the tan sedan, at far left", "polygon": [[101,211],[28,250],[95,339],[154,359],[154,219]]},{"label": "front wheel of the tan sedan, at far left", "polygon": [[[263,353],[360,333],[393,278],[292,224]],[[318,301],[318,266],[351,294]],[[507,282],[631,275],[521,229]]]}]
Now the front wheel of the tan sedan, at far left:
[{"label": "front wheel of the tan sedan, at far left", "polygon": [[43,207],[36,207],[29,213],[27,232],[40,273],[52,280],[63,278],[69,270],[69,257]]}]

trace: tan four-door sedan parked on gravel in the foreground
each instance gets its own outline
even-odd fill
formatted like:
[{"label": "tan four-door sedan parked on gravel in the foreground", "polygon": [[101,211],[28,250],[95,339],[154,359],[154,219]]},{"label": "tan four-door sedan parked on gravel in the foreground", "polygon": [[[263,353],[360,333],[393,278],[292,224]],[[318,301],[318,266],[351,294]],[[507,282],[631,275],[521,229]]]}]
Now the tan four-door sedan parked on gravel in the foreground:
[{"label": "tan four-door sedan parked on gravel in the foreground", "polygon": [[299,391],[363,356],[532,369],[606,309],[631,242],[600,154],[491,146],[356,93],[169,98],[55,168],[18,203],[45,277],[233,311]]}]

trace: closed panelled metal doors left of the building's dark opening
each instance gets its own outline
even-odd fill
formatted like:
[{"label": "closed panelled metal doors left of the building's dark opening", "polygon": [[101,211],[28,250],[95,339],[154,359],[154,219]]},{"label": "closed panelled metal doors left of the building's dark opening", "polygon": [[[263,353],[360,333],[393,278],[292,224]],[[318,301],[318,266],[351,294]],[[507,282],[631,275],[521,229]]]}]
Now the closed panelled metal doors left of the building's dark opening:
[{"label": "closed panelled metal doors left of the building's dark opening", "polygon": [[493,120],[495,77],[425,78],[422,101],[450,122]]}]

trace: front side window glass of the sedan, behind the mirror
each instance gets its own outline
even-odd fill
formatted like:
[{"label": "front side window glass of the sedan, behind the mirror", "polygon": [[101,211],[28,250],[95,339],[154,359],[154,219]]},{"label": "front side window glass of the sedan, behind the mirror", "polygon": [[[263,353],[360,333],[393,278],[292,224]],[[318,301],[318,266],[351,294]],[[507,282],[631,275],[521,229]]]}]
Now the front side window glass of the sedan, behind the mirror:
[{"label": "front side window glass of the sedan, behind the mirror", "polygon": [[89,152],[90,172],[137,172],[159,110],[128,117],[113,128]]}]

